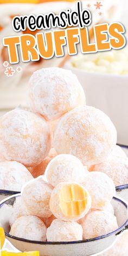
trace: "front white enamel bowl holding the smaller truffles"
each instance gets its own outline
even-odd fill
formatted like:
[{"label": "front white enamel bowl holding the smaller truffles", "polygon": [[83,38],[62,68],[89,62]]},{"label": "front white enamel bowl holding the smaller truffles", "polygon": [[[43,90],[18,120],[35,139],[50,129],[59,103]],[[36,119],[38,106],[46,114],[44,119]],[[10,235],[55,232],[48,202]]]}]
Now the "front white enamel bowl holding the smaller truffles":
[{"label": "front white enamel bowl holding the smaller truffles", "polygon": [[[15,198],[16,196],[0,204],[0,216],[4,204],[13,205]],[[106,249],[114,242],[118,234],[120,234],[124,229],[127,229],[127,204],[121,199],[113,197],[112,205],[114,208],[114,214],[117,217],[119,228],[109,234],[105,234],[94,239],[73,242],[30,241],[9,235],[9,220],[6,222],[3,221],[3,223],[1,222],[1,225],[4,228],[6,238],[21,252],[40,251],[40,256],[88,256]]]}]

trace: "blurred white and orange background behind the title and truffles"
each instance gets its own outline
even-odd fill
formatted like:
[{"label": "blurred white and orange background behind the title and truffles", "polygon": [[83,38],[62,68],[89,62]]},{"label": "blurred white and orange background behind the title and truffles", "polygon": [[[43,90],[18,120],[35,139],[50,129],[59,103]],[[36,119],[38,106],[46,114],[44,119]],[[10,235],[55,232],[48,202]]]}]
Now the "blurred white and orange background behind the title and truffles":
[{"label": "blurred white and orange background behind the title and truffles", "polygon": [[[100,10],[94,7],[96,0],[81,2],[83,8],[87,8],[87,4],[91,5],[89,7],[93,16],[91,26],[96,23],[120,21],[125,26],[125,36],[127,36],[127,0],[101,0],[103,6]],[[126,47],[125,52],[111,51],[111,54],[106,52],[105,55],[97,53],[82,56],[79,54],[72,58],[66,54],[66,57],[53,57],[50,60],[40,59],[28,63],[20,61],[17,65],[12,65],[12,69],[15,70],[13,76],[8,77],[4,73],[7,67],[3,66],[3,63],[9,62],[9,57],[7,47],[3,47],[2,39],[5,36],[21,34],[12,30],[12,17],[44,14],[49,11],[58,14],[60,10],[67,8],[75,9],[75,2],[54,1],[53,4],[51,0],[0,0],[0,116],[18,105],[28,107],[27,85],[30,75],[35,70],[52,66],[69,68],[78,76],[85,89],[87,105],[100,108],[110,116],[118,131],[118,143],[128,145],[128,51]],[[30,31],[27,30],[27,33]]]}]

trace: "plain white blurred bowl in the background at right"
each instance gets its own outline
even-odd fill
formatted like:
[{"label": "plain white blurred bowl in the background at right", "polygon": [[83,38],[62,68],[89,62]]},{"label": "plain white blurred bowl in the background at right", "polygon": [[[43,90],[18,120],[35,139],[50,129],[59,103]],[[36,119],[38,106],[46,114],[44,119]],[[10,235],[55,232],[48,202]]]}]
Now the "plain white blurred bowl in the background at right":
[{"label": "plain white blurred bowl in the background at right", "polygon": [[70,60],[63,68],[78,76],[86,94],[86,104],[99,108],[111,118],[117,129],[118,144],[128,145],[128,75],[86,72],[72,67]]}]

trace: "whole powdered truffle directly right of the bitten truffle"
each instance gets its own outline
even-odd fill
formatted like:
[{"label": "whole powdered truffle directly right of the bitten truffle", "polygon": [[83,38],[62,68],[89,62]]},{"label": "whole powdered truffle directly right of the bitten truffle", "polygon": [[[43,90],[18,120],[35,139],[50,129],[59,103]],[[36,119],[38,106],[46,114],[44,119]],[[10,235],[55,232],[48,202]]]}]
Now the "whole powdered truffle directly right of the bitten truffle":
[{"label": "whole powdered truffle directly right of the bitten truffle", "polygon": [[82,185],[87,189],[92,199],[92,208],[103,209],[116,194],[114,183],[110,177],[102,172],[89,172]]}]

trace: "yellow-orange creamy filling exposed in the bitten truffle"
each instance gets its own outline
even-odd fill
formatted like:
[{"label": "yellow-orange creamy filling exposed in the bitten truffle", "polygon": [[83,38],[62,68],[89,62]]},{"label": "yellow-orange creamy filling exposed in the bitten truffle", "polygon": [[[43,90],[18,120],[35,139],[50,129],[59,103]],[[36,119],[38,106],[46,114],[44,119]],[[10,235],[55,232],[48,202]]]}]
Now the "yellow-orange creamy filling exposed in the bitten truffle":
[{"label": "yellow-orange creamy filling exposed in the bitten truffle", "polygon": [[63,185],[60,192],[60,208],[66,217],[79,216],[86,209],[87,193],[79,184]]}]

